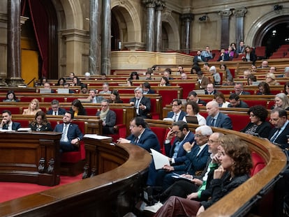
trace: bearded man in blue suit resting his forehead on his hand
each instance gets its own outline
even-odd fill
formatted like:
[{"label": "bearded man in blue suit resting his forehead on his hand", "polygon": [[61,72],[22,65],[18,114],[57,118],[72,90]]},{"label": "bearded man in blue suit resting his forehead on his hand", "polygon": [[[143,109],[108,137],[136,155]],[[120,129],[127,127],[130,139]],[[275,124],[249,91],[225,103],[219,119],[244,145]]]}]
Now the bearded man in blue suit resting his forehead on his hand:
[{"label": "bearded man in blue suit resting his forehead on his hand", "polygon": [[[172,138],[175,136],[173,144]],[[172,124],[172,128],[165,139],[165,155],[169,157],[171,165],[180,165],[186,160],[186,151],[183,144],[193,142],[194,135],[188,129],[188,124],[185,121],[177,121]],[[156,176],[158,170],[154,167],[154,161],[149,165],[149,177],[147,178],[147,186],[156,185]]]}]

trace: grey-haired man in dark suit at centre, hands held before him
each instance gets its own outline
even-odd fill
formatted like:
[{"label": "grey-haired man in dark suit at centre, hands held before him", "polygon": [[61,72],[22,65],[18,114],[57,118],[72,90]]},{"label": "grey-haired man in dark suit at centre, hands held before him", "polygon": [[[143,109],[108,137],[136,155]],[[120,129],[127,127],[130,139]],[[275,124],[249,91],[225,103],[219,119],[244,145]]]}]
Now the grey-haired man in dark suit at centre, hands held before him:
[{"label": "grey-haired man in dark suit at centre, hands held before him", "polygon": [[138,117],[144,119],[150,118],[149,112],[151,112],[151,99],[143,96],[143,90],[141,87],[135,88],[135,97],[131,98],[129,103],[135,106],[135,111]]}]

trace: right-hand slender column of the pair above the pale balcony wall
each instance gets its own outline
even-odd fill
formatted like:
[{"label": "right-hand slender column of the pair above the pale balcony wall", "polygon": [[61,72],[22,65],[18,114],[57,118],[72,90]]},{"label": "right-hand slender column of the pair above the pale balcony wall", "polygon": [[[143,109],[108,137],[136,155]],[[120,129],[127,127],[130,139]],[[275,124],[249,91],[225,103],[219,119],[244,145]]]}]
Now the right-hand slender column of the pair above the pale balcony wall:
[{"label": "right-hand slender column of the pair above the pale balcony wall", "polygon": [[156,1],[156,52],[161,52],[162,50],[162,22],[161,14],[163,7],[165,6],[165,1]]}]

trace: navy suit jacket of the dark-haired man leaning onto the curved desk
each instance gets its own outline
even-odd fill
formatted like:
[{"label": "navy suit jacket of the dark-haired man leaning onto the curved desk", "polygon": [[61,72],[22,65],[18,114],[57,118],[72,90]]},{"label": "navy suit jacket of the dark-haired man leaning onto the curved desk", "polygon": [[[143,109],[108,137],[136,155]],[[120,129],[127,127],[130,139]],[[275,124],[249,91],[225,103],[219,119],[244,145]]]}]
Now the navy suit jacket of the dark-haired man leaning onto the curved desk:
[{"label": "navy suit jacket of the dark-haired man leaning onto the curved desk", "polygon": [[154,134],[154,132],[151,131],[149,128],[145,128],[144,133],[142,133],[142,136],[140,137],[140,140],[138,142],[135,142],[137,137],[135,137],[135,135],[133,134],[129,135],[126,139],[131,140],[131,144],[136,144],[149,152],[151,152],[150,149],[161,151],[158,137],[156,137],[156,134]]}]

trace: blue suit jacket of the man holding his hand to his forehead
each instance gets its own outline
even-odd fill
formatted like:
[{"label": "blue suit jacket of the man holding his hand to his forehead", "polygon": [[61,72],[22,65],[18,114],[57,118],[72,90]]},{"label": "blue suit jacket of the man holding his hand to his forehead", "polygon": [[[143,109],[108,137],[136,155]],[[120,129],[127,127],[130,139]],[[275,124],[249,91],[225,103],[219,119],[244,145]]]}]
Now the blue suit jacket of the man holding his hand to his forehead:
[{"label": "blue suit jacket of the man holding his hand to his forehead", "polygon": [[[193,140],[195,139],[195,135],[190,131],[188,133],[188,135],[186,136],[186,139],[181,141],[181,146],[179,147],[179,151],[177,152],[177,158],[175,158],[175,163],[179,164],[179,163],[184,163],[184,161],[186,160],[186,151],[183,148],[183,144],[185,144],[186,142],[190,142],[192,143]],[[165,155],[172,158],[172,156],[175,153],[175,147],[176,147],[176,143],[177,143],[177,139],[175,138],[173,144],[171,145],[171,143],[165,143]]]}]

